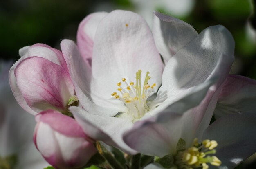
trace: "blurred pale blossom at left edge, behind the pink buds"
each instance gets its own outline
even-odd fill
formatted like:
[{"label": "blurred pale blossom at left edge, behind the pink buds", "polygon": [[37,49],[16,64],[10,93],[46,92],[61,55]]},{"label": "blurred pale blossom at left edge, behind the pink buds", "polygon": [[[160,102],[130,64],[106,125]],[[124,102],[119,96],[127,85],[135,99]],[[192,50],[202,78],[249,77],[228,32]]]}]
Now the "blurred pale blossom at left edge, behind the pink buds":
[{"label": "blurred pale blossom at left edge, behind the pink buds", "polygon": [[11,61],[0,61],[0,168],[43,169],[49,164],[33,143],[34,116],[17,104],[8,83]]}]

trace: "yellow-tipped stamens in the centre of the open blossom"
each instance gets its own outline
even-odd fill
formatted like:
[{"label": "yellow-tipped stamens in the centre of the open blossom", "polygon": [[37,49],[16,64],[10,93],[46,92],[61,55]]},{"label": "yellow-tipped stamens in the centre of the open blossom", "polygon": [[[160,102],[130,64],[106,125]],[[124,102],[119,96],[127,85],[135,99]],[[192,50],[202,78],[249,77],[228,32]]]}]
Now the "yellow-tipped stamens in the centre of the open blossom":
[{"label": "yellow-tipped stamens in the centre of the open blossom", "polygon": [[111,95],[115,99],[119,99],[124,102],[124,104],[129,108],[127,112],[128,115],[133,116],[135,119],[139,119],[144,114],[150,110],[147,105],[147,99],[150,96],[150,93],[153,91],[153,88],[156,86],[154,83],[152,86],[148,84],[149,79],[151,78],[149,72],[146,73],[144,83],[141,83],[141,70],[136,72],[136,84],[134,82],[127,83],[126,79],[123,78],[122,82],[126,87],[122,87],[122,83],[118,82],[117,86],[119,87],[117,92],[113,92]]}]

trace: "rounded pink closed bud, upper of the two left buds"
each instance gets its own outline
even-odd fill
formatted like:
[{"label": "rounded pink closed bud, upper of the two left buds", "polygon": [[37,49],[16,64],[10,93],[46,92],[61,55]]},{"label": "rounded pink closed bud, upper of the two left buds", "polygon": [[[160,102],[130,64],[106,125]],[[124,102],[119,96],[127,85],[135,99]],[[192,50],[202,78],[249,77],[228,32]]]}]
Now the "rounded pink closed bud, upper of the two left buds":
[{"label": "rounded pink closed bud, upper of the two left buds", "polygon": [[47,109],[67,114],[74,87],[62,53],[45,44],[26,46],[19,53],[9,81],[20,106],[31,114]]}]

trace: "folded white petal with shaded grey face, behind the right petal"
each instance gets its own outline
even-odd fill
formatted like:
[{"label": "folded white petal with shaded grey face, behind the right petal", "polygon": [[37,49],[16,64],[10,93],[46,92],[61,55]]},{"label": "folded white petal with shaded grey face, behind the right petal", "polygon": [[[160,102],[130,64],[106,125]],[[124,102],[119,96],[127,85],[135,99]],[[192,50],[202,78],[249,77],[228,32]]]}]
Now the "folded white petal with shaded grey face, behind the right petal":
[{"label": "folded white petal with shaded grey face, behind the right petal", "polygon": [[153,12],[152,32],[166,63],[198,35],[190,24],[159,12]]}]

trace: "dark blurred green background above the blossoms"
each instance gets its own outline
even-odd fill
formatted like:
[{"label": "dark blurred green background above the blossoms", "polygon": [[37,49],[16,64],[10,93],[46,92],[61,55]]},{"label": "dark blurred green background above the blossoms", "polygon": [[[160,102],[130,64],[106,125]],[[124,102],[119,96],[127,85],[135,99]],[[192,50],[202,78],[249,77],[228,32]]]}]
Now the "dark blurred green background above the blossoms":
[{"label": "dark blurred green background above the blossoms", "polygon": [[[158,10],[188,22],[198,33],[211,25],[227,27],[236,42],[231,73],[256,79],[255,4],[256,0],[2,0],[0,59],[18,60],[18,50],[35,43],[59,49],[62,39],[76,40],[79,22],[95,11],[128,9],[150,24],[152,10]],[[256,168],[254,159],[238,168]]]}]

